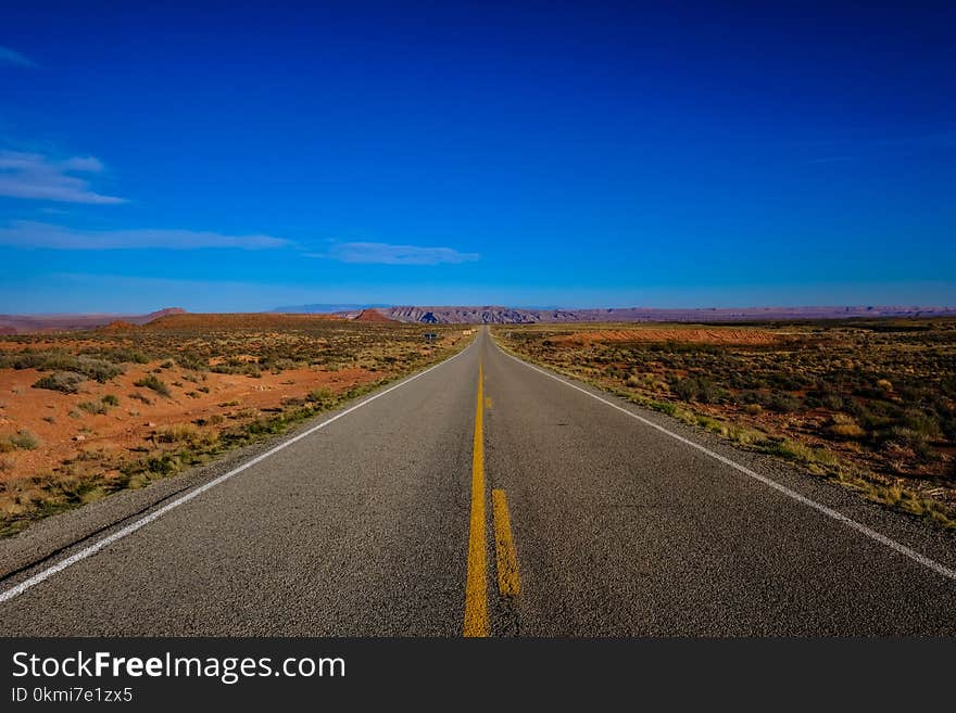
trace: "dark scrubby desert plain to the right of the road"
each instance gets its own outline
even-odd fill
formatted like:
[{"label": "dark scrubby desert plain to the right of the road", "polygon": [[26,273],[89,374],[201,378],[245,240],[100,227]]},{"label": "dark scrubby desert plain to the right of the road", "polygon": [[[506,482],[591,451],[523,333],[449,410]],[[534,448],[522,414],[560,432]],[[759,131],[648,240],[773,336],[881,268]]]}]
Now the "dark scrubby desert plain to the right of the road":
[{"label": "dark scrubby desert plain to the right of the road", "polygon": [[956,527],[956,320],[502,326],[521,356]]}]

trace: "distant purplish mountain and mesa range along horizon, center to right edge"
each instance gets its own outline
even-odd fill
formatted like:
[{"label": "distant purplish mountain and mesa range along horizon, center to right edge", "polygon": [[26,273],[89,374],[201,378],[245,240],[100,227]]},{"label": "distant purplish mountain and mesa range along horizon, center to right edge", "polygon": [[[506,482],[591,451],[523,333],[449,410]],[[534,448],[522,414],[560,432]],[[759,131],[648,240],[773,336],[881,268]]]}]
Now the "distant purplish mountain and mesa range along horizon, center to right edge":
[{"label": "distant purplish mountain and mesa range along horizon, center to right edge", "polygon": [[[482,307],[387,307],[378,311],[402,322],[520,324],[536,322],[725,322],[788,319],[851,319],[875,317],[956,316],[956,307],[712,307],[661,309],[618,307],[607,309],[528,309]],[[344,316],[344,315],[343,315]]]}]

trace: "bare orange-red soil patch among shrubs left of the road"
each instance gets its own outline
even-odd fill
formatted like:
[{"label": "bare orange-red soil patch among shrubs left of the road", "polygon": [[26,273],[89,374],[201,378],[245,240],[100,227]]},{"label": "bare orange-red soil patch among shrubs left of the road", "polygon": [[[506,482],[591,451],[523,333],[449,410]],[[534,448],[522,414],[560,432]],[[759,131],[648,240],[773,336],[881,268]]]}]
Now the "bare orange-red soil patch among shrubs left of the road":
[{"label": "bare orange-red soil patch among shrubs left of the road", "polygon": [[[277,408],[284,399],[301,397],[313,389],[325,386],[338,393],[381,378],[381,373],[362,368],[339,371],[304,368],[279,374],[263,372],[260,379],[209,372],[205,381],[192,383],[183,380],[179,370],[166,369],[156,375],[169,386],[172,397],[134,385],[160,364],[130,366],[126,373],[105,384],[86,381],[77,394],[33,389],[32,385],[43,375],[35,369],[0,370],[0,435],[25,429],[41,442],[34,450],[17,449],[3,454],[5,467],[0,469],[0,480],[50,471],[80,451],[137,448],[163,426],[211,416],[228,418],[247,409]],[[183,386],[174,386],[173,382]],[[200,386],[209,387],[210,393],[200,392]],[[152,404],[130,398],[135,392]],[[187,393],[193,396],[187,396]],[[78,408],[84,402],[99,403],[106,394],[117,396],[120,405],[110,408],[105,415],[92,415]]]}]

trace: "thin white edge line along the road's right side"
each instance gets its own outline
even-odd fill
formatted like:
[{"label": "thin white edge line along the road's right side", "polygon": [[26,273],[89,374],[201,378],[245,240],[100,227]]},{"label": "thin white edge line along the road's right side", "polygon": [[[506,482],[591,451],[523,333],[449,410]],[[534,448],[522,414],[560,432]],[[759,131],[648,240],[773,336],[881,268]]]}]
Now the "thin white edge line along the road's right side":
[{"label": "thin white edge line along the road's right side", "polygon": [[613,402],[609,402],[606,398],[601,398],[601,396],[599,396],[598,394],[591,393],[587,389],[581,389],[580,386],[573,384],[569,381],[562,379],[561,377],[556,377],[555,374],[550,373],[550,372],[545,371],[544,369],[539,369],[538,367],[536,367],[531,364],[528,364],[524,359],[519,359],[518,357],[511,354],[510,352],[506,352],[501,346],[499,346],[498,343],[494,342],[494,340],[492,340],[492,343],[494,343],[494,345],[501,351],[502,354],[511,357],[512,359],[514,359],[518,364],[523,364],[526,367],[528,367],[529,369],[533,369],[534,371],[542,373],[545,377],[554,379],[555,381],[563,383],[565,386],[568,386],[569,389],[574,389],[576,391],[581,392],[582,394],[587,394],[591,398],[598,399],[602,404],[605,404],[605,405],[609,406],[611,408],[617,409],[621,413],[627,413],[628,416],[630,416],[633,419],[637,419],[638,421],[640,421],[644,425],[650,425],[652,429],[656,429],[661,433],[665,433],[665,434],[669,435],[671,438],[676,438],[677,441],[680,441],[681,443],[690,446],[691,448],[696,448],[701,453],[703,453],[707,456],[710,456],[710,458],[714,458],[716,460],[719,460],[721,463],[730,466],[731,468],[740,471],[744,475],[750,475],[754,480],[759,481],[764,485],[772,487],[775,491],[782,493],[783,495],[785,495],[789,498],[793,498],[794,500],[796,500],[801,505],[805,505],[808,508],[813,508],[817,512],[821,512],[822,514],[827,515],[828,518],[832,518],[833,520],[836,520],[838,522],[843,523],[847,527],[852,527],[853,530],[856,530],[858,533],[866,535],[870,539],[875,539],[876,542],[880,543],[881,545],[885,545],[886,547],[898,552],[900,555],[903,555],[904,557],[908,557],[914,562],[918,562],[919,564],[922,564],[924,568],[932,570],[936,574],[941,574],[944,577],[948,577],[949,580],[956,581],[956,571],[951,570],[945,564],[941,564],[940,562],[936,562],[935,560],[931,560],[926,555],[920,555],[915,549],[910,549],[906,545],[901,545],[895,539],[890,539],[889,537],[877,532],[872,527],[868,527],[867,525],[859,523],[856,520],[847,518],[842,512],[838,512],[836,510],[834,510],[832,508],[828,508],[826,505],[820,505],[816,500],[812,500],[808,497],[806,497],[805,495],[801,495],[796,491],[792,491],[791,488],[787,487],[785,485],[781,485],[777,481],[771,480],[771,479],[767,478],[766,475],[760,475],[759,473],[752,471],[750,468],[746,468],[745,466],[741,466],[740,463],[731,460],[730,458],[727,458],[726,456],[721,456],[720,454],[710,450],[706,446],[702,446],[699,443],[694,443],[690,438],[684,438],[682,435],[678,435],[677,433],[674,433],[672,431],[668,431],[663,425],[658,425],[657,423],[654,423],[654,421],[651,421],[650,419],[645,419],[644,417],[639,416],[639,415],[634,413],[633,411],[629,411],[628,409],[624,408],[622,406],[615,404]]}]

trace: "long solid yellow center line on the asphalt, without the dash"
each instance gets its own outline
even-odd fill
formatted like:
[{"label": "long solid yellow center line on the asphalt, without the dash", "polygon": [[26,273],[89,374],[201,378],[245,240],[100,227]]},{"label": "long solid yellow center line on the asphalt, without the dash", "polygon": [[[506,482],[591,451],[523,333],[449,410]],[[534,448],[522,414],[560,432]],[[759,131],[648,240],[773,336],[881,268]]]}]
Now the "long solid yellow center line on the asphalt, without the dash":
[{"label": "long solid yellow center line on the asphalt, without the dash", "polygon": [[465,582],[465,636],[488,636],[487,540],[485,535],[485,369],[478,362],[478,399],[471,446],[471,520],[468,529],[468,576]]}]

